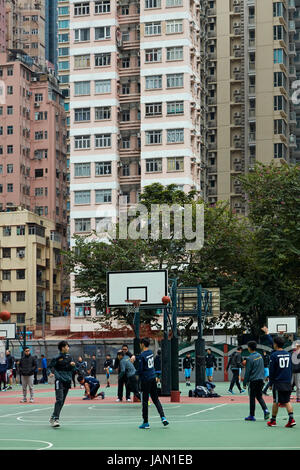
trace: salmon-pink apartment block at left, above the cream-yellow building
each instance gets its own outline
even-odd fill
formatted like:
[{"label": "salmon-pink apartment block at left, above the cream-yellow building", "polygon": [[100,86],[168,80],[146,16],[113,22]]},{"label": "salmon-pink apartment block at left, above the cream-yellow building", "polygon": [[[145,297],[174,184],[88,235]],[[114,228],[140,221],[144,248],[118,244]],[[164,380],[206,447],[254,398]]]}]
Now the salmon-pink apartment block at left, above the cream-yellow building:
[{"label": "salmon-pink apartment block at left, above the cream-yellow building", "polygon": [[66,116],[57,79],[0,54],[0,207],[22,206],[55,223],[66,238]]}]

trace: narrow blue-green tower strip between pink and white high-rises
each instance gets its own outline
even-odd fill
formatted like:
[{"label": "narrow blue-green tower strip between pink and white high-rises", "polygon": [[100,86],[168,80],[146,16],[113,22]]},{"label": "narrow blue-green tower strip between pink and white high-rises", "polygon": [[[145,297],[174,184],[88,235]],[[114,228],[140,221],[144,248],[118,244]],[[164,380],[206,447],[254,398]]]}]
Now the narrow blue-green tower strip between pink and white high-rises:
[{"label": "narrow blue-green tower strip between pink and white high-rises", "polygon": [[57,0],[45,0],[45,55],[57,72],[58,57],[58,10]]}]

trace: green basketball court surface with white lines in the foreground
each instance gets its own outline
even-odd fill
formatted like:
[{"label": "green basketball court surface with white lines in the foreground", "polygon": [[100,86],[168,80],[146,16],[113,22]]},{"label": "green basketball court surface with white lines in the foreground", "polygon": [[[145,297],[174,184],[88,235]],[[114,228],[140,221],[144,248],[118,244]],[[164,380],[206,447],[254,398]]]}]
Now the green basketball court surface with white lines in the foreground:
[{"label": "green basketball court surface with white lines in the foreground", "polygon": [[[43,392],[43,387],[45,392]],[[256,422],[249,414],[247,396],[230,397],[228,384],[218,383],[221,398],[203,402],[171,403],[163,407],[169,426],[163,427],[153,404],[149,407],[149,430],[140,430],[140,403],[116,403],[116,388],[106,389],[105,400],[81,401],[83,391],[71,389],[60,417],[60,428],[51,428],[54,405],[51,385],[37,386],[36,403],[20,404],[21,387],[14,386],[9,404],[0,394],[1,450],[299,450],[300,404],[294,403],[299,423],[286,429],[287,413],[279,409],[277,427],[269,428],[257,406]],[[188,389],[181,384],[182,397]],[[48,401],[47,401],[47,400]],[[77,402],[74,403],[74,400]],[[45,402],[41,403],[42,400]],[[73,401],[72,401],[73,400]],[[2,403],[1,403],[2,401]],[[7,402],[7,399],[5,400]],[[266,400],[267,401],[267,400]],[[268,397],[271,410],[271,397]]]}]

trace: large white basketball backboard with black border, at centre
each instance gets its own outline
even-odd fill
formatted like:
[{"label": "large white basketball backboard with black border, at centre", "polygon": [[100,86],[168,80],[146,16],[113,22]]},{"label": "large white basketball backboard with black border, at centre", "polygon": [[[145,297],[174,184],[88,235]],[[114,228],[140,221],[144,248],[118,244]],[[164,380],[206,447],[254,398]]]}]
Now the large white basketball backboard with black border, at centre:
[{"label": "large white basketball backboard with black border, at centre", "polygon": [[140,307],[163,306],[168,295],[168,271],[115,271],[107,273],[107,306],[128,307],[126,300],[141,300]]}]

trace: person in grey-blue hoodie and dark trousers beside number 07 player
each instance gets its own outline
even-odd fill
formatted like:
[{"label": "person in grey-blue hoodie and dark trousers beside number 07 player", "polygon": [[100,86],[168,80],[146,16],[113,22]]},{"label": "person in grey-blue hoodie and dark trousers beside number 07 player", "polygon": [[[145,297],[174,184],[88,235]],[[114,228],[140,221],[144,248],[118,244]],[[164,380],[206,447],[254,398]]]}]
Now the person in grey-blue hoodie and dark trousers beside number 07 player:
[{"label": "person in grey-blue hoodie and dark trousers beside number 07 player", "polygon": [[256,421],[255,419],[255,400],[260,404],[264,418],[270,416],[267,405],[262,396],[264,386],[264,361],[262,355],[256,351],[257,344],[255,341],[249,341],[249,356],[246,360],[246,371],[244,376],[243,387],[249,387],[250,414],[245,418],[246,421]]}]

